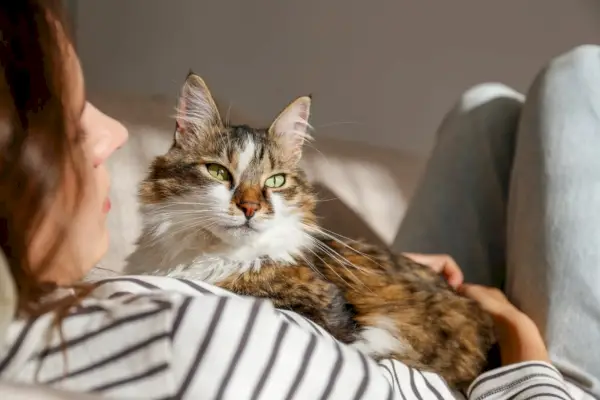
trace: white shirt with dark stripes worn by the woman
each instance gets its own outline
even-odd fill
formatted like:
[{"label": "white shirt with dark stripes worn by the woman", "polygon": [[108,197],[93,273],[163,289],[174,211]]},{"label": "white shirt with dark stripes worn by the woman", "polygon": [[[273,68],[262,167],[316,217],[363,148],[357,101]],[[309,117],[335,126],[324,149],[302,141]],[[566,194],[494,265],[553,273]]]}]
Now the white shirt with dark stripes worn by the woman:
[{"label": "white shirt with dark stripes worn by the woman", "polygon": [[[437,375],[379,363],[266,300],[167,277],[104,279],[62,322],[16,320],[0,378],[110,398],[455,399]],[[587,399],[543,362],[489,371],[469,399]]]}]

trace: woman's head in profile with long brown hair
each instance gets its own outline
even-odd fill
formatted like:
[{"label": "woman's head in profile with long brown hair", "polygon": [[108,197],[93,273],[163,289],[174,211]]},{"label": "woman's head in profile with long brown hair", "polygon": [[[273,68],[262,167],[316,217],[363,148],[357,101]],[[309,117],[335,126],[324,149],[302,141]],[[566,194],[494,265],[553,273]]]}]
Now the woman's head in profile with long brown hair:
[{"label": "woman's head in profile with long brown hair", "polygon": [[54,3],[0,6],[0,246],[23,307],[44,283],[73,283],[105,253],[104,163],[127,137],[86,101]]}]

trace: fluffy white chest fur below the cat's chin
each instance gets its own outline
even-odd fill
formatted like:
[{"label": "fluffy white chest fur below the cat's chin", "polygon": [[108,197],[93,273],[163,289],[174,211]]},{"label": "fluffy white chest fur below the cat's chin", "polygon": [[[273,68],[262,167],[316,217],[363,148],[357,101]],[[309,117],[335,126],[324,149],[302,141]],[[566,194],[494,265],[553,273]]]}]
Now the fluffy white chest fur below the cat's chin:
[{"label": "fluffy white chest fur below the cat's chin", "polygon": [[265,259],[293,263],[311,248],[299,217],[274,219],[260,232],[224,240],[198,226],[182,228],[173,213],[144,210],[143,233],[125,272],[187,277],[215,283],[233,273],[259,269]]}]

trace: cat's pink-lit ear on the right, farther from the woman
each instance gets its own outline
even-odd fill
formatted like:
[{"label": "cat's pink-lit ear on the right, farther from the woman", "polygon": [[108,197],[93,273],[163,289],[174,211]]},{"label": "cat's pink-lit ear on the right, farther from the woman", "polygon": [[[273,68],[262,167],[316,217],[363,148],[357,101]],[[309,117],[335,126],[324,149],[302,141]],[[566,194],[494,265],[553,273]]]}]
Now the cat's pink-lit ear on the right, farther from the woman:
[{"label": "cat's pink-lit ear on the right, farther from the woman", "polygon": [[269,135],[277,140],[292,162],[302,157],[302,145],[310,140],[310,104],[311,96],[302,96],[291,102],[269,128]]}]

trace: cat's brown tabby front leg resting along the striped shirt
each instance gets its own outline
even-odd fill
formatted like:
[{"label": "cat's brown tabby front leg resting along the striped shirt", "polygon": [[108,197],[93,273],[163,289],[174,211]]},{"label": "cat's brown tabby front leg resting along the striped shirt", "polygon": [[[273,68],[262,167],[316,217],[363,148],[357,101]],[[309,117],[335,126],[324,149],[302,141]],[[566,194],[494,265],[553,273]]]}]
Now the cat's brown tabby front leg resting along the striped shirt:
[{"label": "cat's brown tabby front leg resting along the striped shirt", "polygon": [[342,291],[309,267],[262,267],[227,278],[218,286],[246,296],[268,298],[275,307],[308,318],[341,342],[355,340],[354,313]]}]

